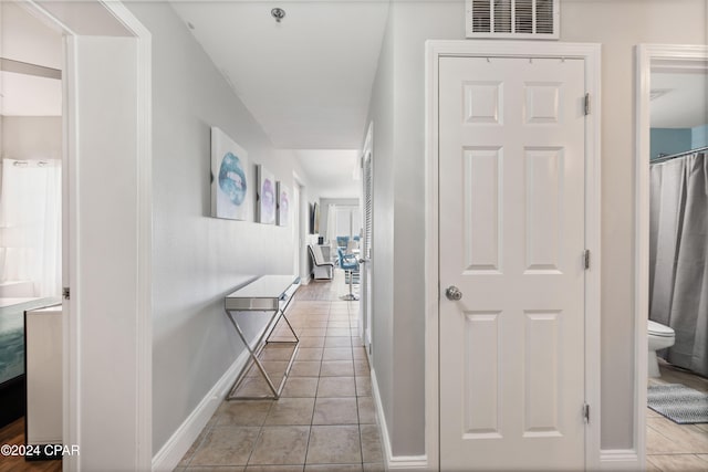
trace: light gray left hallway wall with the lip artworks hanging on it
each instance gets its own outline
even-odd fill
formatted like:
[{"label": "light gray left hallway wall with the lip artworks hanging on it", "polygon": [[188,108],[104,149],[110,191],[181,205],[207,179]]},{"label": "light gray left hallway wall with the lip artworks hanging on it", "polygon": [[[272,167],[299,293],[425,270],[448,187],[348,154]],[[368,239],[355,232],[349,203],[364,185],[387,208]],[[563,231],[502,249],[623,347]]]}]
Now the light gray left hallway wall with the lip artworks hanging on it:
[{"label": "light gray left hallway wall with the lip artworks hanging on it", "polygon": [[[153,35],[153,451],[241,354],[223,296],[250,275],[292,271],[292,230],[210,218],[210,126],[294,187],[272,144],[164,2],[126,4]],[[253,176],[253,174],[251,174]],[[252,178],[252,177],[251,177]],[[305,186],[306,181],[303,182]],[[316,196],[302,195],[302,201]]]}]

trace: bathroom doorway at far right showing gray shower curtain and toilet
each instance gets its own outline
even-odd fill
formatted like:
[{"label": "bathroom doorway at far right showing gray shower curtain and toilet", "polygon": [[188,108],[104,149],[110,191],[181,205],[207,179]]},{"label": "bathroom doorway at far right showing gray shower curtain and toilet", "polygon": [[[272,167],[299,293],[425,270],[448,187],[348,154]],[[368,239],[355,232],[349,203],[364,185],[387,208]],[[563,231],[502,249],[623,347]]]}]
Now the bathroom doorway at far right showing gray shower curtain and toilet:
[{"label": "bathroom doorway at far right showing gray shower curtain and toilet", "polygon": [[708,48],[641,45],[637,66],[637,450],[648,470],[704,470]]}]

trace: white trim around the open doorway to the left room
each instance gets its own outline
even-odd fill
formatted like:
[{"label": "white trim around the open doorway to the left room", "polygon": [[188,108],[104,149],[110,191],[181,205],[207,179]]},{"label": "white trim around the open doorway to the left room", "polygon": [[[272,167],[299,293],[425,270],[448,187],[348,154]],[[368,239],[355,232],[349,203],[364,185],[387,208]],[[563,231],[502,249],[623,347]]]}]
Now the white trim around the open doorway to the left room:
[{"label": "white trim around the open doorway to the left room", "polygon": [[[73,71],[75,67],[76,54],[74,50],[74,38],[77,34],[72,30],[72,21],[77,18],[72,14],[81,14],[83,9],[75,6],[71,11],[54,12],[42,7],[34,0],[25,0],[31,9],[48,19],[51,23],[59,27],[65,32],[66,45],[64,49],[65,61],[64,70]],[[136,168],[136,196],[135,208],[132,209],[136,218],[135,233],[136,252],[133,263],[136,266],[134,294],[135,313],[132,316],[132,327],[135,332],[135,338],[118,339],[119,343],[134,344],[135,346],[135,365],[134,381],[135,391],[131,397],[135,405],[135,421],[132,424],[135,431],[135,450],[125,451],[125,454],[134,461],[136,470],[150,470],[153,460],[153,329],[152,329],[152,243],[153,243],[153,212],[152,212],[152,34],[135,18],[135,15],[121,2],[110,2],[103,0],[88,0],[87,8],[94,6],[105,8],[127,31],[129,31],[136,40],[136,109],[134,124],[136,130],[135,157],[137,161]],[[66,18],[61,15],[65,14]],[[97,35],[97,34],[96,34]],[[77,158],[77,149],[81,147],[83,139],[90,137],[82,136],[81,130],[76,127],[76,99],[81,93],[81,85],[72,82],[74,74],[67,73],[64,77],[64,114],[66,125],[63,129],[65,166],[64,181],[69,181],[70,208],[69,220],[64,220],[69,224],[70,240],[64,244],[67,251],[67,261],[70,264],[69,281],[64,281],[64,286],[76,287],[81,265],[81,245],[77,242],[79,219],[77,214],[77,192],[76,189],[81,185],[81,176],[75,169],[72,169],[72,162]],[[82,336],[91,336],[93,339],[102,338],[106,346],[111,346],[116,342],[115,334],[104,331],[100,333],[84,333],[82,329],[82,314],[77,310],[79,300],[88,298],[90,293],[72,292],[72,298],[64,301],[64,369],[63,369],[63,442],[64,444],[80,444],[82,436],[100,434],[101,431],[82,431],[82,373],[81,373],[81,339]],[[110,368],[110,366],[106,366]],[[82,451],[83,452],[83,451]],[[63,458],[63,466],[65,470],[81,470],[81,455],[65,455]]]}]

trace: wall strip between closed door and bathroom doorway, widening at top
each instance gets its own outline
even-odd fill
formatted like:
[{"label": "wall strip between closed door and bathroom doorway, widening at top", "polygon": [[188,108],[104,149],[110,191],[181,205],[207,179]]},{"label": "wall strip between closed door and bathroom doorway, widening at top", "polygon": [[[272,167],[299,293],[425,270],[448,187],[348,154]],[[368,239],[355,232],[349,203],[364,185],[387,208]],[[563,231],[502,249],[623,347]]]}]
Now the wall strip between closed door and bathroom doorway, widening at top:
[{"label": "wall strip between closed door and bathroom doorway, widening at top", "polygon": [[563,41],[602,50],[602,448],[631,448],[634,408],[634,46],[706,44],[705,0],[568,1]]}]

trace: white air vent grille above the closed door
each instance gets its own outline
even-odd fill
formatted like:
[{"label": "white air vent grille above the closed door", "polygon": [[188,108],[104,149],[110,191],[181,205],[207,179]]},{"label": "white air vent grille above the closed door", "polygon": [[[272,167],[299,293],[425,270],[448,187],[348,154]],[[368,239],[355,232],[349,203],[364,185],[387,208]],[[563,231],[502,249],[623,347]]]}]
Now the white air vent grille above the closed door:
[{"label": "white air vent grille above the closed door", "polygon": [[465,10],[467,38],[559,38],[559,0],[466,0]]}]

